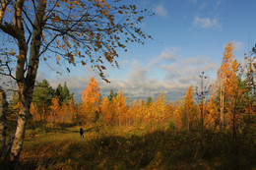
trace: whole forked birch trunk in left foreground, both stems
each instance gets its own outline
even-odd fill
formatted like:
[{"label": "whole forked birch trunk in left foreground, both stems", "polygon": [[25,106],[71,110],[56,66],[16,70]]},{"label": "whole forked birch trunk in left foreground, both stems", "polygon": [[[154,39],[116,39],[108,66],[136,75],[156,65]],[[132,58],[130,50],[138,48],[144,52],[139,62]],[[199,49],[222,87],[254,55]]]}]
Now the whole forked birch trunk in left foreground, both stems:
[{"label": "whole forked birch trunk in left foreground, both stems", "polygon": [[[17,169],[19,157],[23,148],[26,125],[30,115],[32,103],[32,92],[35,83],[37,68],[39,64],[40,40],[43,29],[43,16],[45,15],[46,1],[38,0],[32,29],[32,41],[30,46],[29,67],[26,72],[26,61],[28,59],[28,44],[25,38],[25,30],[22,22],[22,12],[25,0],[17,0],[15,4],[14,27],[16,30],[13,36],[18,40],[19,58],[17,60],[16,81],[19,86],[20,110],[17,118],[17,127],[11,137],[5,153],[4,164],[8,169]],[[1,17],[1,16],[0,16]],[[8,28],[1,25],[1,28],[8,33]]]}]

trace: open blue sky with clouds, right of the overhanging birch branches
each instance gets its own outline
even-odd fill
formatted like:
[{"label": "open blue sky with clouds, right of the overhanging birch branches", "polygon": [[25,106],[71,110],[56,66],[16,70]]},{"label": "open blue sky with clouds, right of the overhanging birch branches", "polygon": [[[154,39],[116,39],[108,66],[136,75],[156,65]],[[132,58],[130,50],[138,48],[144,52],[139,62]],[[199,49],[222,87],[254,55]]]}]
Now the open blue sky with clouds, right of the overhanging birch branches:
[{"label": "open blue sky with clouds, right of the overhanging birch branches", "polygon": [[102,95],[122,88],[126,96],[133,98],[164,92],[167,100],[175,100],[184,95],[189,85],[198,85],[201,72],[206,72],[209,84],[214,81],[228,41],[233,42],[239,61],[256,42],[255,0],[129,2],[156,13],[142,24],[154,40],[146,40],[145,45],[128,44],[127,53],[120,51],[120,69],[107,65],[105,72],[111,84],[101,81],[89,67],[72,67],[71,73],[62,68],[59,76],[43,62],[37,80],[48,79],[54,87],[67,82],[77,100],[92,76],[98,80]]}]

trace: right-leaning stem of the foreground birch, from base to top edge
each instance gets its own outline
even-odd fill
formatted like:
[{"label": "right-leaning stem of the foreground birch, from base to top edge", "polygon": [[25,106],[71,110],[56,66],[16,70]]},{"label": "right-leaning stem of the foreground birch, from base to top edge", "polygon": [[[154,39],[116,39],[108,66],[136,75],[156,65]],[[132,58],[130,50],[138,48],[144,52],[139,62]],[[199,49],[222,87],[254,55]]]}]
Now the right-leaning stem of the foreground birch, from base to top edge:
[{"label": "right-leaning stem of the foreground birch, from base to top edge", "polygon": [[[22,151],[26,124],[30,115],[30,105],[32,102],[32,91],[35,83],[37,68],[39,64],[39,49],[40,49],[40,39],[42,33],[42,21],[45,14],[46,1],[39,0],[36,14],[34,17],[34,24],[32,30],[32,43],[30,48],[30,62],[27,77],[24,81],[18,78],[19,82],[19,94],[20,94],[20,111],[17,120],[17,129],[14,136],[14,141],[12,142],[10,161],[16,162]],[[22,67],[21,67],[22,68]],[[18,69],[17,69],[18,71]],[[17,73],[17,76],[22,78],[21,72]]]}]

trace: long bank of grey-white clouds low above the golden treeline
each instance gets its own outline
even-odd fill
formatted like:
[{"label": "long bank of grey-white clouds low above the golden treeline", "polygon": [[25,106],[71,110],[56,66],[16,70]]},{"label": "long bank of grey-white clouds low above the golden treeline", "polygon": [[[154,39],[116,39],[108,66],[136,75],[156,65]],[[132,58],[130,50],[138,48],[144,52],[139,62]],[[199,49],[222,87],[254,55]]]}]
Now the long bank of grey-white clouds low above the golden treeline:
[{"label": "long bank of grey-white clouds low above the golden treeline", "polygon": [[[167,101],[176,100],[185,94],[189,85],[199,85],[201,72],[206,72],[211,77],[211,74],[217,70],[218,66],[211,58],[203,55],[183,57],[180,51],[178,47],[166,47],[159,56],[152,58],[146,64],[137,60],[128,61],[129,64],[126,66],[130,67],[129,72],[125,73],[122,79],[111,79],[109,76],[110,84],[97,79],[101,95],[109,95],[110,89],[115,91],[122,89],[124,95],[132,99],[147,99],[164,93]],[[92,71],[89,73],[81,76],[57,76],[49,80],[49,83],[56,87],[59,83],[66,82],[70,90],[75,93],[75,99],[80,101],[81,93],[90,78],[92,76],[98,78],[96,73]],[[40,76],[39,78],[42,79]]]}]

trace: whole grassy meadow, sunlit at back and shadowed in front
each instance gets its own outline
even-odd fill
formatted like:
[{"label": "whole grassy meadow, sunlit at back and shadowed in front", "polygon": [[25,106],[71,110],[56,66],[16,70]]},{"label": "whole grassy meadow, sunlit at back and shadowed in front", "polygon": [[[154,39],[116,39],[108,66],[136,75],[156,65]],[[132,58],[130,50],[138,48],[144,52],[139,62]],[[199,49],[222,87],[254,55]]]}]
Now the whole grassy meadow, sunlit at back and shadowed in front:
[{"label": "whole grassy meadow, sunlit at back and shadowed in front", "polygon": [[30,127],[23,169],[255,169],[255,145],[232,151],[228,134],[169,129]]}]

